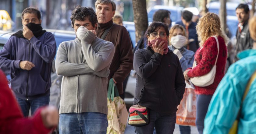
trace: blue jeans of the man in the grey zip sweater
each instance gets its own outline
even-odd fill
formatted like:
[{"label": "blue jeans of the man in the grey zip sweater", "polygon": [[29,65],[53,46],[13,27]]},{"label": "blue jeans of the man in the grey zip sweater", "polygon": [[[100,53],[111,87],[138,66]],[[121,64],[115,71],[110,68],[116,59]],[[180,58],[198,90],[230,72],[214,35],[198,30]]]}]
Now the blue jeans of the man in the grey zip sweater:
[{"label": "blue jeans of the man in the grey zip sweater", "polygon": [[106,134],[108,119],[99,112],[66,113],[59,115],[60,134]]}]

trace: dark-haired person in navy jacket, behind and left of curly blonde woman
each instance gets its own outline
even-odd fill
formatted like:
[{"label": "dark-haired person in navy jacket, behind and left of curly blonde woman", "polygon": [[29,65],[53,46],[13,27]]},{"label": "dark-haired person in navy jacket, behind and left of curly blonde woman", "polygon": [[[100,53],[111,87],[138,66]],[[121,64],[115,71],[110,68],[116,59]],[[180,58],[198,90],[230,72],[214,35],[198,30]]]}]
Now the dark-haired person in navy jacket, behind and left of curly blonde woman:
[{"label": "dark-haired person in navy jacket, behind and left of curly blonde woman", "polygon": [[192,22],[193,13],[190,11],[183,11],[181,16],[181,21],[176,22],[186,29],[186,34],[188,36],[187,49],[196,52],[199,48],[198,46],[198,35],[196,31],[197,23]]}]

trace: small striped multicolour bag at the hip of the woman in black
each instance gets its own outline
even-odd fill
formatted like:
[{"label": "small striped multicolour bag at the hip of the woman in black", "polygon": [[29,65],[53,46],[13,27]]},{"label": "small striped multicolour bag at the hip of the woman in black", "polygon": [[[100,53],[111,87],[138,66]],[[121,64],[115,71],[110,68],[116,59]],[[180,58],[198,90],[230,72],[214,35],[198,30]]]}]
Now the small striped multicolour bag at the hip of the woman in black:
[{"label": "small striped multicolour bag at the hip of the woman in black", "polygon": [[133,105],[129,109],[128,124],[131,126],[144,126],[149,123],[149,111],[147,107]]}]

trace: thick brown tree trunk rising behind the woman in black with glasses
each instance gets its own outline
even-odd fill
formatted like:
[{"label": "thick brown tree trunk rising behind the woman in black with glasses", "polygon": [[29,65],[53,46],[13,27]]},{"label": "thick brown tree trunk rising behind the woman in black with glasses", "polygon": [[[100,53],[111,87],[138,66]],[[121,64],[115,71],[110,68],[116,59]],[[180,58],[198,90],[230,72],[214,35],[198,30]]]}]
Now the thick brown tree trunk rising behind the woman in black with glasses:
[{"label": "thick brown tree trunk rising behind the woman in black with glasses", "polygon": [[146,0],[133,0],[133,15],[135,23],[136,42],[143,37],[148,28],[148,13]]}]

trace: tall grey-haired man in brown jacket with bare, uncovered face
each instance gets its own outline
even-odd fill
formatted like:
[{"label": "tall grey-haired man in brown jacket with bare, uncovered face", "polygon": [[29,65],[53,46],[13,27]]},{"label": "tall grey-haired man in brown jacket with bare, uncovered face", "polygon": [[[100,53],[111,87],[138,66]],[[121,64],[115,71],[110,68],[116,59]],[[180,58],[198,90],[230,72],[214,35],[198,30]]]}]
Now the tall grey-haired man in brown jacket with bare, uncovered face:
[{"label": "tall grey-haired man in brown jacket with bare, uncovered face", "polygon": [[[113,78],[121,95],[123,94],[123,81],[133,68],[130,36],[124,26],[113,24],[112,17],[116,12],[116,4],[113,1],[97,0],[95,8],[98,17],[97,37],[110,41],[115,46],[115,54],[109,68],[108,81]],[[106,34],[105,37],[104,34]]]}]

